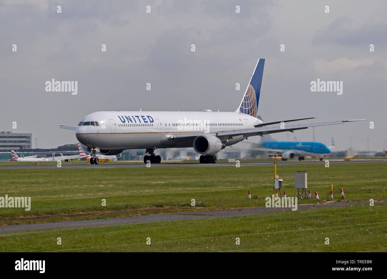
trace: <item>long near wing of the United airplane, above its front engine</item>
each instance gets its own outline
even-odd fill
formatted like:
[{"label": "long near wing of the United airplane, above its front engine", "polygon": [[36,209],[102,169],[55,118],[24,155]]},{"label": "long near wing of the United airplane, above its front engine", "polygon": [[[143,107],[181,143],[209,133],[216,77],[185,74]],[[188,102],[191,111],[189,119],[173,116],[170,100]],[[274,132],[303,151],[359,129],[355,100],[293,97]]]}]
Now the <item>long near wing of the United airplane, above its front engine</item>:
[{"label": "long near wing of the United airplane, above its front engine", "polygon": [[[231,130],[231,131],[209,131],[208,134],[215,134],[218,137],[220,136],[232,137],[232,136],[243,135],[245,138],[247,138],[249,136],[263,136],[264,134],[281,133],[284,131],[289,131],[293,133],[293,131],[295,130],[308,129],[309,127],[337,125],[337,124],[343,124],[345,122],[364,121],[364,120],[367,120],[367,119],[342,120],[342,121],[336,121],[336,122],[322,122],[322,123],[315,123],[315,124],[312,123],[312,124],[289,125],[289,126],[285,126],[284,129],[281,129],[279,127],[269,127],[269,128],[258,127],[258,128],[252,128],[252,129]],[[193,132],[193,133],[173,133],[173,135],[169,136],[169,140],[178,140],[179,143],[184,143],[184,142],[191,141],[193,140],[193,138],[200,136],[202,134],[207,134],[207,133],[204,133],[202,131]]]}]

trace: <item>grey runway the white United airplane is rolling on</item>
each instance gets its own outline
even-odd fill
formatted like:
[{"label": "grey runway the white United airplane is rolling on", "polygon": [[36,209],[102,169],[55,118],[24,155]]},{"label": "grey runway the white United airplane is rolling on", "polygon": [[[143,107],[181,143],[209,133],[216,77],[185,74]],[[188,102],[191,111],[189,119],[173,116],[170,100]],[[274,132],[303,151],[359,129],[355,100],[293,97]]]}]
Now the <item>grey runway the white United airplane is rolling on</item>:
[{"label": "grey runway the white United airplane is rolling on", "polygon": [[[329,159],[327,159],[329,160]],[[356,163],[387,163],[387,160],[329,160],[329,164],[356,164]],[[216,164],[200,164],[200,163],[160,163],[151,164],[151,167],[235,167],[236,163],[216,163]],[[323,161],[277,161],[277,165],[325,165]],[[240,166],[268,166],[273,165],[270,162],[240,162]],[[56,164],[52,165],[17,165],[17,162],[10,162],[9,165],[0,165],[0,169],[23,169],[23,168],[58,168]],[[74,164],[62,162],[62,168],[146,168],[144,163],[99,163],[98,165],[91,165],[90,163]]]}]

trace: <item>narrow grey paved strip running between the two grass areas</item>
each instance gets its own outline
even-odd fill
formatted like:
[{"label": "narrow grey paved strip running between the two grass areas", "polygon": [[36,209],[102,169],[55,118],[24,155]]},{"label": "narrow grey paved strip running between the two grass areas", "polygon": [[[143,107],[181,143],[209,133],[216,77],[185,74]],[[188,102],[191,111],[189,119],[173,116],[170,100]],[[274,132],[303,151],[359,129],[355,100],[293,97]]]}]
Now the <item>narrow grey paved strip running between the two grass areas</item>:
[{"label": "narrow grey paved strip running between the two grass areas", "polygon": [[[346,207],[346,206],[363,205],[363,204],[368,205],[369,203],[370,203],[369,201],[347,201],[347,202],[327,202],[325,204],[304,204],[304,205],[298,205],[297,210],[319,209],[319,208],[329,208],[329,207]],[[387,201],[375,201],[375,205],[377,204],[379,205],[387,204]],[[152,222],[162,222],[162,221],[234,217],[234,216],[245,216],[245,215],[271,213],[271,212],[281,212],[285,210],[291,210],[291,208],[259,207],[259,208],[241,208],[241,209],[214,210],[214,211],[190,211],[190,212],[181,212],[181,213],[150,214],[150,215],[131,216],[131,217],[91,219],[91,220],[80,220],[80,221],[56,222],[56,223],[10,225],[10,226],[0,226],[0,234],[21,233],[26,231],[84,228],[84,227],[93,227],[93,226],[110,226],[110,225],[122,225],[122,224],[152,223]]]}]

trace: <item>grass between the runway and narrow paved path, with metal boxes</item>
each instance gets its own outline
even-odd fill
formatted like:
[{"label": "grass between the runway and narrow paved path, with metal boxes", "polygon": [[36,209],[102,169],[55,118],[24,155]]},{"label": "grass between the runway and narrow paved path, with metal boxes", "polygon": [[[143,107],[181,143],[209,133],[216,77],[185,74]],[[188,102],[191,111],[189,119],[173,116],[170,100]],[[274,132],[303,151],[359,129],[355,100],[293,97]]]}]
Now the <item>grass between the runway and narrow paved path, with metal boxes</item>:
[{"label": "grass between the runway and narrow paved path, with metal boxes", "polygon": [[[277,174],[287,196],[296,196],[293,173],[306,169],[320,202],[329,200],[330,184],[336,200],[340,188],[347,200],[385,200],[384,163],[324,166],[281,165]],[[264,206],[273,176],[272,166],[1,169],[0,197],[31,197],[31,210],[0,208],[0,225]],[[299,204],[318,202],[312,197]]]}]

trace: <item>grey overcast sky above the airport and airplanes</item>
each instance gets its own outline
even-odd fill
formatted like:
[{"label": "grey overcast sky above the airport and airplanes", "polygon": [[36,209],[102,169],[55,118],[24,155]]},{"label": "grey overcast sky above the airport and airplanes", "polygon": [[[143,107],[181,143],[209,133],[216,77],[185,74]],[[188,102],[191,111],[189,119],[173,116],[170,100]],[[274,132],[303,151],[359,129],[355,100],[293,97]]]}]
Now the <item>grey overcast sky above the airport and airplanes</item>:
[{"label": "grey overcast sky above the airport and airplanes", "polygon": [[[315,139],[330,145],[333,136],[336,150],[344,150],[352,137],[353,148],[366,150],[369,138],[370,150],[381,151],[386,6],[384,0],[0,0],[0,131],[33,133],[39,148],[54,148],[77,142],[58,124],[76,125],[94,111],[235,111],[258,58],[265,58],[258,108],[264,121],[368,119],[317,127]],[[52,78],[77,81],[77,95],[46,92]],[[342,95],[311,92],[317,78],[342,81]],[[313,139],[312,128],[289,134]]]}]

